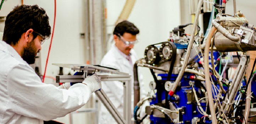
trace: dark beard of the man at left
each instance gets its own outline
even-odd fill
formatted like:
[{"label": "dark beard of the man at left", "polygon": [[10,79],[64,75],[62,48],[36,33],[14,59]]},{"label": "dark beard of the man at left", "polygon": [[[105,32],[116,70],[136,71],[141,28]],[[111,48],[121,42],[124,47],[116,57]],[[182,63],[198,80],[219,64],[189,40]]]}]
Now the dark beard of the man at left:
[{"label": "dark beard of the man at left", "polygon": [[28,43],[28,45],[26,47],[24,47],[22,58],[28,64],[34,64],[36,55],[37,55],[37,49],[35,47],[34,40],[32,40],[30,43]]}]

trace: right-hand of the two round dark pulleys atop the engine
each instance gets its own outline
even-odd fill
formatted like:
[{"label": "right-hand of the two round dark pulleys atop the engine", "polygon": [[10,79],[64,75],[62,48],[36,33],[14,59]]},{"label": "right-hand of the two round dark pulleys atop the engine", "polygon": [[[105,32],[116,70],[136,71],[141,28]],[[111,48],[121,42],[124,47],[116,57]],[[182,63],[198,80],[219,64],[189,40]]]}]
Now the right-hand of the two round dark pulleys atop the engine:
[{"label": "right-hand of the two round dark pulleys atop the engine", "polygon": [[173,55],[173,47],[170,42],[163,42],[159,49],[159,56],[163,61],[170,61]]}]

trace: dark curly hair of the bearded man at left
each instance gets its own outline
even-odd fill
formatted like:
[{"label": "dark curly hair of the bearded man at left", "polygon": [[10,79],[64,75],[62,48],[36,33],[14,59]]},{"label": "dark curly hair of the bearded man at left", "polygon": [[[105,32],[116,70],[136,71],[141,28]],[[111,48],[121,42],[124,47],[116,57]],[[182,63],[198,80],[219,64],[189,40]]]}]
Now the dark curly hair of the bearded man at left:
[{"label": "dark curly hair of the bearded man at left", "polygon": [[[39,8],[38,5],[15,6],[6,17],[2,40],[7,44],[16,45],[21,35],[30,28],[46,38],[50,37],[51,26],[45,10]],[[37,35],[37,33],[33,33],[33,39]]]}]

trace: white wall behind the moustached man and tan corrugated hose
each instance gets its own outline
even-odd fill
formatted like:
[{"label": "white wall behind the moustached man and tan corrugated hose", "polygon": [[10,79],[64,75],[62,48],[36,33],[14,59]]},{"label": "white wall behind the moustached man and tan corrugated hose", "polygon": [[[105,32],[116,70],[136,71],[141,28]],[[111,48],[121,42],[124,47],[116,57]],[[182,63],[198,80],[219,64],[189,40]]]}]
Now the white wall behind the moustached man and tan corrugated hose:
[{"label": "white wall behind the moustached man and tan corrugated hose", "polygon": [[[112,34],[114,24],[122,11],[126,0],[107,0],[107,32]],[[180,24],[179,0],[137,0],[128,21],[140,30],[134,50],[139,58],[144,57],[148,45],[166,41],[169,32]],[[149,83],[153,81],[148,68],[141,68],[145,90],[149,91]]]}]

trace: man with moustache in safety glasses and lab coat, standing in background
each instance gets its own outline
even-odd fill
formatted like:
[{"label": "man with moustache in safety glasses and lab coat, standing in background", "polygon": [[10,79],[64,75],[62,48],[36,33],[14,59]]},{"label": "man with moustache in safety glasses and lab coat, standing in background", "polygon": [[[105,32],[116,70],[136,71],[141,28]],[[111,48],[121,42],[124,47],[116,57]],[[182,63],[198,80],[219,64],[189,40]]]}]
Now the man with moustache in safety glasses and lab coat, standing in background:
[{"label": "man with moustache in safety glasses and lab coat, standing in background", "polygon": [[[128,21],[118,23],[113,31],[113,40],[115,41],[115,44],[112,45],[111,49],[101,60],[101,66],[116,68],[119,69],[120,72],[132,75],[132,105],[134,101],[133,65],[138,60],[138,57],[132,48],[138,42],[136,38],[137,34],[139,34],[139,29],[134,26],[133,23]],[[143,93],[145,91],[143,90],[143,82],[141,80],[142,75],[139,75],[141,98],[143,98],[146,95]],[[123,83],[119,81],[102,82],[102,89],[104,89],[118,112],[123,116]],[[102,104],[99,115],[100,124],[115,123],[113,117]]]}]

